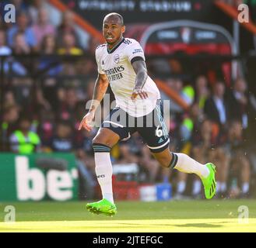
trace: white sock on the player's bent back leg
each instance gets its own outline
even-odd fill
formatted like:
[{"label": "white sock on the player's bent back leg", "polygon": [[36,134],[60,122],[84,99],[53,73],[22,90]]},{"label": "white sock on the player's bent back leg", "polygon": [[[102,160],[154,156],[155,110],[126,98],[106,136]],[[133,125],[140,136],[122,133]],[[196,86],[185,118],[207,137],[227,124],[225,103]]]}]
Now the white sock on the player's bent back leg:
[{"label": "white sock on the player's bent back leg", "polygon": [[177,164],[174,167],[178,171],[186,173],[195,173],[199,177],[207,177],[209,175],[209,169],[205,164],[200,164],[196,160],[184,153],[174,153],[177,155]]}]

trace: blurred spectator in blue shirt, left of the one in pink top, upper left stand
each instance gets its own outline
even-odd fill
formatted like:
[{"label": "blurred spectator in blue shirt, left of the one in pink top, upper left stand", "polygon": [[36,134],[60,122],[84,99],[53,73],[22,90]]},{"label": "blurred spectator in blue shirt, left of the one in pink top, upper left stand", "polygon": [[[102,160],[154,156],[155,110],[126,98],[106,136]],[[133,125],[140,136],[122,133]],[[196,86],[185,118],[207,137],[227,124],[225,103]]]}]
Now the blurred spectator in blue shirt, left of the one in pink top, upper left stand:
[{"label": "blurred spectator in blue shirt, left of the one in pink top, upper left stand", "polygon": [[20,12],[16,16],[16,19],[16,25],[12,26],[7,31],[9,46],[13,46],[13,40],[16,36],[16,33],[24,33],[26,43],[30,47],[35,48],[37,46],[37,40],[35,34],[33,33],[33,29],[29,26],[29,19],[26,15],[26,12]]}]

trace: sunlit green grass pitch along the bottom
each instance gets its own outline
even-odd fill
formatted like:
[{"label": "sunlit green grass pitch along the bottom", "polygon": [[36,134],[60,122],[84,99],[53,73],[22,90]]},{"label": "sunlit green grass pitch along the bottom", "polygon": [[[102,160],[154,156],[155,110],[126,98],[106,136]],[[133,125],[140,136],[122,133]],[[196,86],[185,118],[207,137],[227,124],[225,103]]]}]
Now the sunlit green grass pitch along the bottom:
[{"label": "sunlit green grass pitch along the bottom", "polygon": [[[0,232],[256,232],[255,200],[116,202],[117,215],[93,215],[86,202],[2,202]],[[4,222],[5,206],[16,222]],[[240,205],[249,209],[239,219]]]}]

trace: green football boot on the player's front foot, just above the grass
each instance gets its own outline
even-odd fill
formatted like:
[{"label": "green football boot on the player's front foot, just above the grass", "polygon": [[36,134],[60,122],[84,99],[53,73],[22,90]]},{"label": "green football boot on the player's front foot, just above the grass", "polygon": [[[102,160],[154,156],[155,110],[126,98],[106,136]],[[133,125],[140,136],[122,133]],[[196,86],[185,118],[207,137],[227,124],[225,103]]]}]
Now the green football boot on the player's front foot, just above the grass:
[{"label": "green football boot on the player's front foot, just above the grass", "polygon": [[89,212],[96,215],[108,215],[113,216],[117,213],[117,207],[114,203],[107,201],[107,199],[102,199],[99,202],[91,202],[86,205]]}]

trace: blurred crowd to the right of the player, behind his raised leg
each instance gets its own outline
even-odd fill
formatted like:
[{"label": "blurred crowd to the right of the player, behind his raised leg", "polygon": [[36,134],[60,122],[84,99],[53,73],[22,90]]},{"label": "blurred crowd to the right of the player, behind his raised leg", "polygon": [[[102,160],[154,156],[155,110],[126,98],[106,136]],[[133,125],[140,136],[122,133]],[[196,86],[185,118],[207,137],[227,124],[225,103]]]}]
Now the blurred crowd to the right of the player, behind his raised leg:
[{"label": "blurred crowd to the right of the player, behind his raised leg", "polygon": [[[186,88],[181,90],[184,100],[188,92]],[[253,132],[248,113],[255,115],[255,109],[251,109],[246,81],[237,78],[227,88],[222,80],[216,80],[210,90],[207,77],[199,75],[192,92],[193,100],[187,100],[191,102],[190,111],[171,125],[174,129],[170,136],[176,143],[173,150],[188,153],[202,164],[216,164],[217,198],[247,197],[254,174],[250,153],[255,153],[248,140]],[[186,198],[188,182],[190,195],[201,198],[201,182],[192,177],[188,181],[188,174],[183,173],[177,173],[176,197]]]}]

